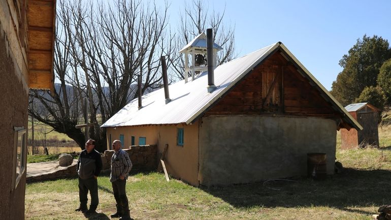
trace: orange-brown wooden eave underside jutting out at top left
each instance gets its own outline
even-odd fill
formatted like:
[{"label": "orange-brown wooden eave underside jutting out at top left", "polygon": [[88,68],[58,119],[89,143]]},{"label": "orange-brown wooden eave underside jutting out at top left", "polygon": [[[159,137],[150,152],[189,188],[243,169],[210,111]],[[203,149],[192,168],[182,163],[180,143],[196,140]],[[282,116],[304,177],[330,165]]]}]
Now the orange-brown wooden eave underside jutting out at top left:
[{"label": "orange-brown wooden eave underside jutting out at top left", "polygon": [[54,32],[56,0],[27,2],[28,86],[54,89]]}]

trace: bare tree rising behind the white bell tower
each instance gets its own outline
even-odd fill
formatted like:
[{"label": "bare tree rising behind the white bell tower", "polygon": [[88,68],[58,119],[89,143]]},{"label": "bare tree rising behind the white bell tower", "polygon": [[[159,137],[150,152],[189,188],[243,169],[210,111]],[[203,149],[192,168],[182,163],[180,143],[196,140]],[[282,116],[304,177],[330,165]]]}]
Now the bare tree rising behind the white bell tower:
[{"label": "bare tree rising behind the white bell tower", "polygon": [[[186,4],[183,13],[180,14],[180,21],[176,44],[179,51],[181,47],[187,45],[191,40],[199,34],[206,31],[207,28],[213,29],[213,40],[223,49],[217,52],[217,64],[221,65],[234,59],[235,53],[235,26],[229,25],[226,27],[223,22],[225,15],[225,7],[222,12],[216,12],[214,9],[209,12],[209,8],[205,7],[203,0],[192,0],[191,4]],[[181,54],[173,54],[169,57],[172,62],[171,69],[177,77],[184,79],[184,58]]]}]

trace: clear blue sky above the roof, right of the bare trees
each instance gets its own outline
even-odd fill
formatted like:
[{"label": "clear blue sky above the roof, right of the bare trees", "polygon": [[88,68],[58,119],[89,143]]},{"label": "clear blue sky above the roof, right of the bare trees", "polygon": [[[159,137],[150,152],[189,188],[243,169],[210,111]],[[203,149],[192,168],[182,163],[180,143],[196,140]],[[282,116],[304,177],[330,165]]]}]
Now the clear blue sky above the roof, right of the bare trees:
[{"label": "clear blue sky above the roof, right of the bare trees", "polygon": [[[184,0],[168,0],[176,26]],[[187,0],[186,2],[191,2]],[[391,41],[391,1],[208,1],[225,8],[224,23],[235,25],[239,56],[281,41],[328,90],[342,68],[339,60],[365,34]]]}]

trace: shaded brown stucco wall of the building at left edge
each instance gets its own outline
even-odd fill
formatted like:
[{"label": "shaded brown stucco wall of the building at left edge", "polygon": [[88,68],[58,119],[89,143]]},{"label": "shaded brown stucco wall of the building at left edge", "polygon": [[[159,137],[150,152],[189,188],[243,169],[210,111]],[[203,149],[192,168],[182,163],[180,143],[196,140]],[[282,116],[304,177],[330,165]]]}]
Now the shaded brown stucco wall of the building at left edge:
[{"label": "shaded brown stucco wall of the building at left edge", "polygon": [[27,128],[27,69],[9,13],[7,1],[0,1],[0,219],[20,220],[24,219],[26,173],[13,190],[13,128]]}]

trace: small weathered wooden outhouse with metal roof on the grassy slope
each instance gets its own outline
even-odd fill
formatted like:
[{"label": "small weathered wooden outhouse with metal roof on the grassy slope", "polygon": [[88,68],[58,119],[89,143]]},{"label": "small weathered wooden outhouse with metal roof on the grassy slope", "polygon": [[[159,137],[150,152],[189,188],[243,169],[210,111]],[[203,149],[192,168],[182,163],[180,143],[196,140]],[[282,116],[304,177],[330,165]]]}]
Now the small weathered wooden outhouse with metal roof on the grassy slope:
[{"label": "small weathered wooden outhouse with metal roof on the grassy slope", "polygon": [[369,103],[350,104],[345,109],[364,129],[362,131],[341,129],[341,148],[351,149],[367,145],[379,146],[377,130],[379,109]]}]

